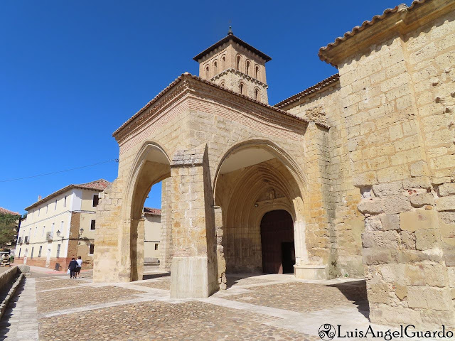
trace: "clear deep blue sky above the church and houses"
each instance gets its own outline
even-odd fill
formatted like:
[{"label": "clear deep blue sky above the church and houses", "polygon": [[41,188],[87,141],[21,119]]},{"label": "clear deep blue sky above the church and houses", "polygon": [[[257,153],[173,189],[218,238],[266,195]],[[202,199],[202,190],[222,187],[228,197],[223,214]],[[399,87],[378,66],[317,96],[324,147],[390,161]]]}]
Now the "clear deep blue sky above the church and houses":
[{"label": "clear deep blue sky above the church and houses", "polygon": [[[0,207],[25,212],[70,183],[114,180],[117,163],[1,182],[118,157],[112,132],[235,35],[272,57],[275,104],[337,72],[318,50],[390,1],[0,1]],[[406,1],[410,5],[410,0]],[[154,186],[146,205],[160,207]]]}]

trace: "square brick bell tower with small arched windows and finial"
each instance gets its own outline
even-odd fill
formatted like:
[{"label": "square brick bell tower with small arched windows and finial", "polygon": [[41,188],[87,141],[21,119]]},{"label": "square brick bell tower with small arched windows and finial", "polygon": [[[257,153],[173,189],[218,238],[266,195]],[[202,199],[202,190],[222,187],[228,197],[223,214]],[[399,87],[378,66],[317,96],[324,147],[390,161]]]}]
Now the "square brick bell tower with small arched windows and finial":
[{"label": "square brick bell tower with small arched windows and finial", "polygon": [[199,77],[203,80],[269,103],[265,63],[272,58],[234,36],[231,27],[228,36],[193,59],[199,63]]}]

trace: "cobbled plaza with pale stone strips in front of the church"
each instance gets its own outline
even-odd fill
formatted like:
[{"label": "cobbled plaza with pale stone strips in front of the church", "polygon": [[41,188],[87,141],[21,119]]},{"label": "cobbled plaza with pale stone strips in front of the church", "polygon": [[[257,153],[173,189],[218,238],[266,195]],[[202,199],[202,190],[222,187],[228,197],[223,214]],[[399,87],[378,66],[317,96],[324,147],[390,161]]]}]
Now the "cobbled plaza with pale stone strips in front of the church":
[{"label": "cobbled plaza with pale stone strips in front of the church", "polygon": [[321,340],[323,323],[368,328],[364,281],[235,275],[210,298],[177,300],[169,273],[149,267],[144,278],[99,284],[91,272],[33,273],[1,320],[0,340]]}]

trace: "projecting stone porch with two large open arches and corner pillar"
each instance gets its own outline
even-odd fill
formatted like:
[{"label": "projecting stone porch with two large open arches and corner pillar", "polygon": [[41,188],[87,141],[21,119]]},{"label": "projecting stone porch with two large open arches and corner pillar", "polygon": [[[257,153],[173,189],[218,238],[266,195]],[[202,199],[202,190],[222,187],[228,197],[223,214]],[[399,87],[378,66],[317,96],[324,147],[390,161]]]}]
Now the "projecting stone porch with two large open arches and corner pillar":
[{"label": "projecting stone porch with two large open arches and corner pillar", "polygon": [[[326,135],[323,124],[182,75],[114,133],[120,148],[119,175],[98,207],[95,281],[141,279],[141,205],[150,186],[166,179],[163,208],[171,296],[207,297],[223,288],[223,245],[218,244],[223,238],[218,233],[225,218],[220,205],[215,206],[214,190],[223,187],[222,166],[248,148],[273,156],[248,166],[257,168],[258,179],[270,178],[278,196],[286,194],[286,200],[274,205],[287,207],[296,217],[296,248],[305,251],[300,251],[299,264],[311,269],[299,276],[314,278],[316,271],[318,277],[327,277],[332,254],[328,232],[323,232],[329,229],[324,213],[328,200],[326,184],[318,180],[326,171]],[[253,186],[260,187],[260,182]],[[253,205],[264,194],[254,191],[247,195]],[[305,206],[305,200],[311,205]],[[232,205],[235,202],[230,208],[223,204],[223,209],[237,210]],[[264,205],[260,203],[257,212]],[[226,219],[226,224],[235,224],[229,215]],[[259,227],[259,215],[248,219]],[[312,237],[305,238],[304,229]]]}]

